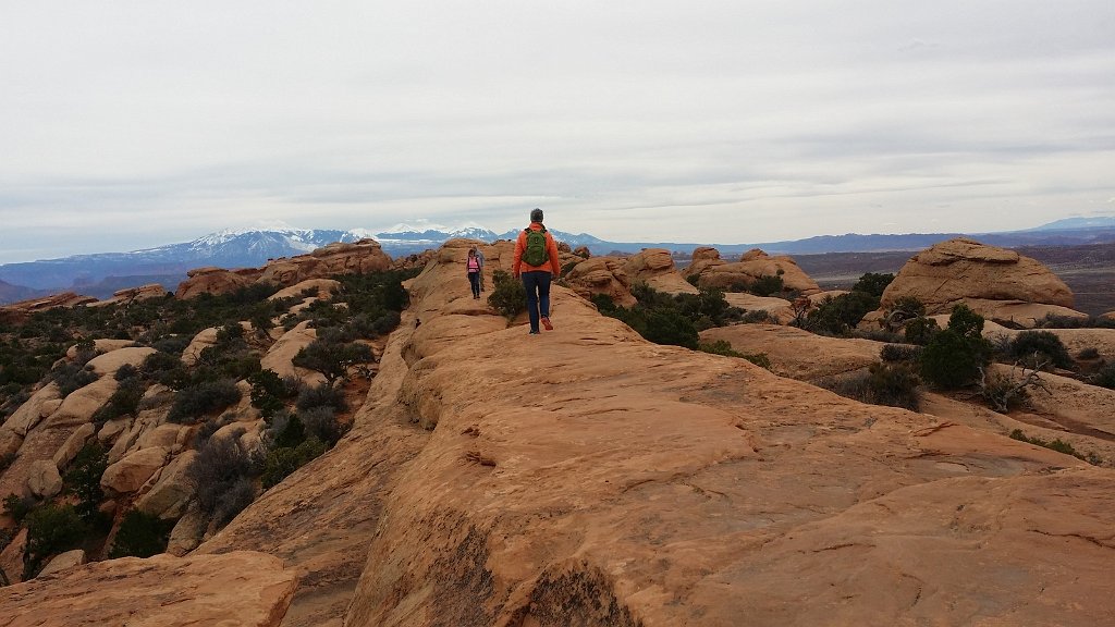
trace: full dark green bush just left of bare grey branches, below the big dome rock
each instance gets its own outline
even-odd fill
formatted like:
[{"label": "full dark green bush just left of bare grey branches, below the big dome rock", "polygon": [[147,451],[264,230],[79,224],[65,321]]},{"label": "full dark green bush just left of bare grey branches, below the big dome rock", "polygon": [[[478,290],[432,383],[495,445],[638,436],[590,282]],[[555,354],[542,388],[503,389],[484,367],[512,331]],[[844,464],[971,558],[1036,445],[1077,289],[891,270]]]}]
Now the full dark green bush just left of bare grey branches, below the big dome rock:
[{"label": "full dark green bush just left of bare grey branches, below the big dome rock", "polygon": [[983,318],[964,305],[952,308],[949,327],[935,335],[921,354],[921,375],[944,389],[976,382],[990,361],[991,345],[983,339]]}]

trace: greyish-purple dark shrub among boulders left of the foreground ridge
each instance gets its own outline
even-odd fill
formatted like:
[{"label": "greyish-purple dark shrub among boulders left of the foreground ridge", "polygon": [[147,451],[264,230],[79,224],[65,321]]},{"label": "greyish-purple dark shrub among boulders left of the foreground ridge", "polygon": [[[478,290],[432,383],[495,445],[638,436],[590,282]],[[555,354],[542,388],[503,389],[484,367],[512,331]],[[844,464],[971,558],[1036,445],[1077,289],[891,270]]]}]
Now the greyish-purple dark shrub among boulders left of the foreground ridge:
[{"label": "greyish-purple dark shrub among boulders left of the foreground ridge", "polygon": [[201,510],[220,525],[251,502],[244,503],[244,483],[251,485],[249,478],[253,470],[251,457],[240,447],[240,437],[230,435],[206,441],[186,469],[186,478],[194,486]]}]

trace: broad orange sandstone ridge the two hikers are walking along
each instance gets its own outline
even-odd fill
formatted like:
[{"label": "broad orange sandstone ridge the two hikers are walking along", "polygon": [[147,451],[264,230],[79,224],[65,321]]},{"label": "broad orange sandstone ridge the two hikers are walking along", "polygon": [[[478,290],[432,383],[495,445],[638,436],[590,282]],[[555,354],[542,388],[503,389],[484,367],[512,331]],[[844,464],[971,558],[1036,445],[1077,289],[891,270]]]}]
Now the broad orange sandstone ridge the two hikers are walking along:
[{"label": "broad orange sandstone ridge the two hikers are walking along", "polygon": [[1111,470],[648,344],[562,288],[527,337],[467,298],[467,243],[413,281],[348,438],[201,549],[298,569],[284,624],[1115,615]]}]

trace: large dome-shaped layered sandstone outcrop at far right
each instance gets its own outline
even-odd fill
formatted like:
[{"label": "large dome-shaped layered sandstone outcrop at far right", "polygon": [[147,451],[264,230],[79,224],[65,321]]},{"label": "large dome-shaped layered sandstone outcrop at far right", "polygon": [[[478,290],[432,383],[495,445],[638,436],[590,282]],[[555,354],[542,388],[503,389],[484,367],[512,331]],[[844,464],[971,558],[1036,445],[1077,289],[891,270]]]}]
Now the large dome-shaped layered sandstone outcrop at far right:
[{"label": "large dome-shaped layered sandstone outcrop at far right", "polygon": [[882,296],[881,309],[914,297],[928,314],[959,302],[985,318],[1032,326],[1046,315],[1086,317],[1073,310],[1073,292],[1039,261],[1008,249],[956,238],[910,258]]}]

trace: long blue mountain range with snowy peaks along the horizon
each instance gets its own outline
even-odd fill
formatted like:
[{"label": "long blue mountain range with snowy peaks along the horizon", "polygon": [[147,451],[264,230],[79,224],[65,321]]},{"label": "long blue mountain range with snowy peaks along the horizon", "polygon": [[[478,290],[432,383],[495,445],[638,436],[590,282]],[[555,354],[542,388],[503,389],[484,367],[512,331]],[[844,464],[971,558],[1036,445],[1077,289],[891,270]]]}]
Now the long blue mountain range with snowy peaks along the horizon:
[{"label": "long blue mountain range with snowy peaks along the horizon", "polygon": [[[437,248],[454,238],[485,242],[512,240],[520,230],[503,233],[468,224],[449,229],[437,224],[399,224],[372,232],[366,229],[297,229],[281,222],[248,229],[227,229],[191,242],[166,244],[132,252],[80,254],[21,263],[0,264],[0,303],[45,293],[74,290],[97,298],[144,283],[159,283],[173,291],[194,268],[258,268],[270,259],[304,254],[333,242],[371,238],[384,252],[398,258]],[[803,240],[758,243],[610,242],[588,233],[551,233],[572,248],[586,247],[592,254],[634,253],[644,248],[691,252],[711,245],[725,257],[759,248],[770,254],[818,254],[826,252],[912,251],[960,237],[961,233],[906,233],[817,235]],[[1036,229],[970,235],[983,243],[1005,248],[1019,245],[1078,245],[1115,241],[1115,216],[1072,218]]]}]

